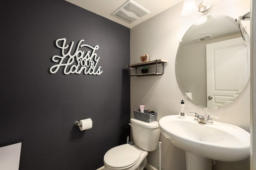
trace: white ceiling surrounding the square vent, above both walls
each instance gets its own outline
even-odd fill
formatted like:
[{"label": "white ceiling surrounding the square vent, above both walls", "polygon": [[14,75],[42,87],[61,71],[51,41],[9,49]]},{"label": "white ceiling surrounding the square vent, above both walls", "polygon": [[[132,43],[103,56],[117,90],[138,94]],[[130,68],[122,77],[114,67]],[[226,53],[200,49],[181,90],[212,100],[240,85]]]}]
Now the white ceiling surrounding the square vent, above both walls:
[{"label": "white ceiling surrounding the square vent, above both walls", "polygon": [[149,18],[167,10],[168,8],[178,4],[183,0],[133,0],[138,5],[142,6],[150,13],[143,16],[139,20],[132,22],[131,24],[113,16],[112,13],[125,4],[128,0],[66,0],[72,4],[80,6],[88,11],[94,12],[100,16],[108,18],[114,22],[117,22],[128,28],[132,28],[141,22],[148,20]]}]

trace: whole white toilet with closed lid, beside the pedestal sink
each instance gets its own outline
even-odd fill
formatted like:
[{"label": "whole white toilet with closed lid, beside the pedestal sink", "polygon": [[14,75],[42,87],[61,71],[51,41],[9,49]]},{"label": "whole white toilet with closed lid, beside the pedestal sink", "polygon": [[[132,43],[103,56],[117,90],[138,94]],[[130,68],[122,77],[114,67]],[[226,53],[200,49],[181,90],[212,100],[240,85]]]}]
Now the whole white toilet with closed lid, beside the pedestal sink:
[{"label": "whole white toilet with closed lid, beside the pedestal sink", "polygon": [[130,119],[134,145],[122,144],[111,148],[104,155],[106,170],[143,170],[148,152],[158,147],[160,129],[158,122],[147,123]]}]

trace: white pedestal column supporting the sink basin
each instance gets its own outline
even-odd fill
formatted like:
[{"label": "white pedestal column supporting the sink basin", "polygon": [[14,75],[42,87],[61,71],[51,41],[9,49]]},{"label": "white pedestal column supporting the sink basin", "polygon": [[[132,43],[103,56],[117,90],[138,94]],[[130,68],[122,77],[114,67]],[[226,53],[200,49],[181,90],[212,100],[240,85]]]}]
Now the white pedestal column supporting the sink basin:
[{"label": "white pedestal column supporting the sink basin", "polygon": [[212,170],[212,160],[186,152],[186,170]]}]

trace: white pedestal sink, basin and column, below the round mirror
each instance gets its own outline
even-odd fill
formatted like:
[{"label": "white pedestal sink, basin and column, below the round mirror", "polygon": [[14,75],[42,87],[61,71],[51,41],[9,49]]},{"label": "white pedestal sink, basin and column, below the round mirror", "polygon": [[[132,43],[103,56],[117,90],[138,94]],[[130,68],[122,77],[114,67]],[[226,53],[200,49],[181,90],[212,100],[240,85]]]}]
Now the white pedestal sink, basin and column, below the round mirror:
[{"label": "white pedestal sink, basin and column, below the round mirror", "polygon": [[171,115],[161,118],[159,127],[170,142],[186,151],[187,170],[211,170],[212,160],[235,162],[250,156],[250,134],[235,125],[217,121],[206,125],[192,116]]}]

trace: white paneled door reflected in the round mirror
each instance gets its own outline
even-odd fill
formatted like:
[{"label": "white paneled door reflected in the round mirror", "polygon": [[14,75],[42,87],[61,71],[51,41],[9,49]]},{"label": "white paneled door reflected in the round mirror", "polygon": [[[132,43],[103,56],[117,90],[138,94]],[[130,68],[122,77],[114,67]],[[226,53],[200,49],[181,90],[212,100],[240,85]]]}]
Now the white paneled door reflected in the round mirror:
[{"label": "white paneled door reflected in the round mirror", "polygon": [[247,81],[240,80],[250,69],[248,56],[241,37],[206,45],[208,109],[228,105],[242,92]]}]

